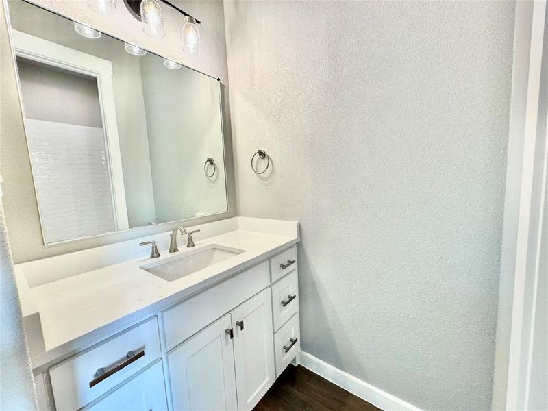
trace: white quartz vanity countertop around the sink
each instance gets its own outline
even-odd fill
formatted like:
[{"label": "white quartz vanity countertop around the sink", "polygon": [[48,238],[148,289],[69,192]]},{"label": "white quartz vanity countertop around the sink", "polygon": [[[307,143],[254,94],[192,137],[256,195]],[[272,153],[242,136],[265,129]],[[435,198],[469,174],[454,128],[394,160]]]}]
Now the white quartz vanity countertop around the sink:
[{"label": "white quartz vanity countertop around the sink", "polygon": [[[179,251],[176,253],[160,249],[160,258],[135,258],[33,286],[25,290],[24,298],[25,301],[32,301],[35,310],[40,313],[45,351],[50,351],[130,314],[134,319],[140,312],[142,315],[148,314],[150,310],[147,308],[166,308],[179,299],[274,256],[299,240],[298,230],[296,232],[295,235],[279,235],[238,227],[234,231],[196,241],[196,247],[190,249],[184,247],[182,237],[179,238]],[[208,245],[232,247],[244,252],[174,281],[166,281],[140,268],[150,262],[195,253]],[[74,348],[75,344],[71,346]]]}]

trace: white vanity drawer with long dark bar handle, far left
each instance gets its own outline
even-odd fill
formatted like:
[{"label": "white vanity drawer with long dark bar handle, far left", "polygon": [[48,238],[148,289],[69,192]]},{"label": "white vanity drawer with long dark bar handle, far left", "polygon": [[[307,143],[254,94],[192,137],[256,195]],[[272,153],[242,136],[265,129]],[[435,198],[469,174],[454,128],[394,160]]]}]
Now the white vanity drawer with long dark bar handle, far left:
[{"label": "white vanity drawer with long dark bar handle, far left", "polygon": [[[133,351],[133,356],[127,354]],[[160,357],[158,320],[147,321],[49,369],[57,411],[85,406]],[[103,375],[97,375],[98,369]]]}]

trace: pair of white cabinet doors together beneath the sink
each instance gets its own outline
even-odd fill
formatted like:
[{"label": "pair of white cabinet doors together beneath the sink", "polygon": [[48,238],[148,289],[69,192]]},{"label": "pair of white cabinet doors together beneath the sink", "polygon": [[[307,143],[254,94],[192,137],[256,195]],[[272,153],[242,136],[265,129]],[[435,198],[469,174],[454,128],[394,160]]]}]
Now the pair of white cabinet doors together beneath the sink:
[{"label": "pair of white cabinet doors together beneath the sink", "polygon": [[251,410],[275,380],[268,289],[168,353],[174,410]]}]

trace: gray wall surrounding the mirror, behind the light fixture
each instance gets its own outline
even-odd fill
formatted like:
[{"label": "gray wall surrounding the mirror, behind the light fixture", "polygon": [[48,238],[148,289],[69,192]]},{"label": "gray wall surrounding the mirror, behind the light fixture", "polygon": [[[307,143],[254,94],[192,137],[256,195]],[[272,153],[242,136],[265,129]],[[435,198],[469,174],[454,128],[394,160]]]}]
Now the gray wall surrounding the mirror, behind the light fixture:
[{"label": "gray wall surrounding the mirror, behind the light fixture", "polygon": [[[14,2],[10,1],[10,3]],[[195,225],[236,215],[234,172],[232,156],[230,155],[232,153],[232,139],[229,126],[230,116],[223,3],[220,1],[176,1],[179,7],[187,10],[190,14],[204,22],[200,26],[203,38],[202,53],[197,58],[188,58],[182,53],[180,38],[182,16],[169,10],[169,8],[164,10],[166,36],[160,40],[149,38],[142,32],[140,23],[129,15],[121,0],[116,1],[118,12],[114,16],[100,16],[80,1],[36,0],[35,3],[69,16],[69,18],[82,21],[82,23],[88,23],[102,32],[145,47],[150,51],[164,55],[166,58],[171,58],[171,60],[182,62],[199,71],[221,77],[225,153],[227,153],[226,167],[229,212],[227,214],[191,219],[184,222],[179,221],[173,223],[173,226],[177,224]],[[5,25],[3,16],[0,19],[0,24]],[[66,244],[49,245],[47,247],[42,244],[42,238],[39,235],[40,220],[38,218],[38,207],[36,205],[36,196],[34,195],[34,186],[32,184],[32,175],[30,173],[29,158],[26,150],[23,118],[21,116],[15,81],[16,77],[11,60],[8,38],[5,36],[0,38],[0,49],[2,53],[2,92],[0,93],[0,103],[2,106],[0,113],[0,134],[2,136],[0,139],[0,153],[2,157],[0,173],[4,179],[3,205],[10,232],[14,262],[36,260],[60,253],[138,238],[147,233],[154,234],[165,231],[166,227],[160,225],[156,227],[142,227],[140,229],[88,238],[86,240],[77,240]],[[126,53],[122,53],[122,55],[124,54]],[[131,114],[129,111],[128,113]],[[169,227],[171,227],[171,224]]]}]

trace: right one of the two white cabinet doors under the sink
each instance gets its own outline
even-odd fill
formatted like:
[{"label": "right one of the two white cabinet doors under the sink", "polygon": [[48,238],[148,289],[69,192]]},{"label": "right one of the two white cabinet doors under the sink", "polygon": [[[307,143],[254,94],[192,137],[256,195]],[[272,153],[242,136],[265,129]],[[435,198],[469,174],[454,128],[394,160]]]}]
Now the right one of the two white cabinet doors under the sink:
[{"label": "right one of the two white cabinet doors under the sink", "polygon": [[230,314],[238,411],[252,410],[275,380],[270,289],[266,288]]}]

